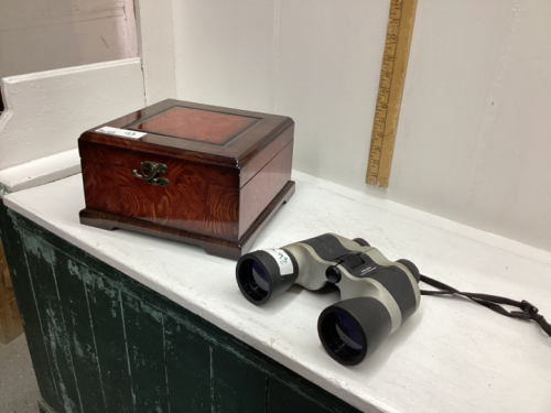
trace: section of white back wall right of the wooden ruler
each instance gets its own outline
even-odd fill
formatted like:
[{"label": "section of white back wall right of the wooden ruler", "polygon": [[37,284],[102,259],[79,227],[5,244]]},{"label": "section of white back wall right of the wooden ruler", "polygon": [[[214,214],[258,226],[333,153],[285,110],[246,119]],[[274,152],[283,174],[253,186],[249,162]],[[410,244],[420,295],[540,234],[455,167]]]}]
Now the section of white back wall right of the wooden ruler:
[{"label": "section of white back wall right of the wooden ruler", "polygon": [[389,196],[551,250],[550,21],[548,0],[419,2]]}]

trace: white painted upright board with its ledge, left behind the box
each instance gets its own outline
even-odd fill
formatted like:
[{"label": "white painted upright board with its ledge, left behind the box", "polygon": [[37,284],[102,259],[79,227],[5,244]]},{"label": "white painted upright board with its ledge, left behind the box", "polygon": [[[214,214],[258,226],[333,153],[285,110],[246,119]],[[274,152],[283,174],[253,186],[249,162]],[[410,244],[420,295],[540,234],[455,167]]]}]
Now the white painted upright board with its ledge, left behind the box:
[{"label": "white painted upright board with its ledge, left behind the box", "polygon": [[145,106],[137,57],[7,77],[1,87],[4,192],[77,173],[82,132]]}]

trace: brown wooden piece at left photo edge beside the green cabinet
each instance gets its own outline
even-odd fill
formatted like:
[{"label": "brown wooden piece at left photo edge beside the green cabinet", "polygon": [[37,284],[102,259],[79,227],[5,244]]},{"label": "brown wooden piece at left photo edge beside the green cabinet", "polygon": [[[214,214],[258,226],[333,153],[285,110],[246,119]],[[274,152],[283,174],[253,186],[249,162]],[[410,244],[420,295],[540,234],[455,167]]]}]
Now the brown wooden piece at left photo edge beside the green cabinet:
[{"label": "brown wooden piece at left photo edge beside the green cabinet", "polygon": [[23,334],[15,293],[11,283],[6,253],[0,242],[0,343],[8,344]]}]

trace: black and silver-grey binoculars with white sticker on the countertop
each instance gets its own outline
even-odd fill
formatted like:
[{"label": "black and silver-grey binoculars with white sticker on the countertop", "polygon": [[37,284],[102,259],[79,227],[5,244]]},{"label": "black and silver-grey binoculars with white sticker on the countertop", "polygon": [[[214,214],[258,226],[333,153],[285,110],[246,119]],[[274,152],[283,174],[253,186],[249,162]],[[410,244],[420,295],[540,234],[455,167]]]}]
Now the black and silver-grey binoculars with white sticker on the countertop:
[{"label": "black and silver-grey binoculars with white sticker on the countertop", "polygon": [[335,284],[342,301],[325,308],[317,334],[329,356],[358,365],[419,307],[420,273],[408,260],[389,261],[361,238],[324,233],[280,249],[241,257],[237,284],[252,304],[262,305],[292,284],[320,290]]}]

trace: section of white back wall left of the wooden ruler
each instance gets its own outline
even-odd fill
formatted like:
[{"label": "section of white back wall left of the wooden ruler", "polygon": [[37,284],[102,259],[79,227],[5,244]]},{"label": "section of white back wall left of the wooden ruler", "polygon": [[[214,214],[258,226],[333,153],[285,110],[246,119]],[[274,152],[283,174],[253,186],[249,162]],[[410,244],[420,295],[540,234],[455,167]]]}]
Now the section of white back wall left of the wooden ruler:
[{"label": "section of white back wall left of the wooden ruler", "polygon": [[361,186],[388,7],[174,0],[177,96],[291,116],[294,166]]}]

